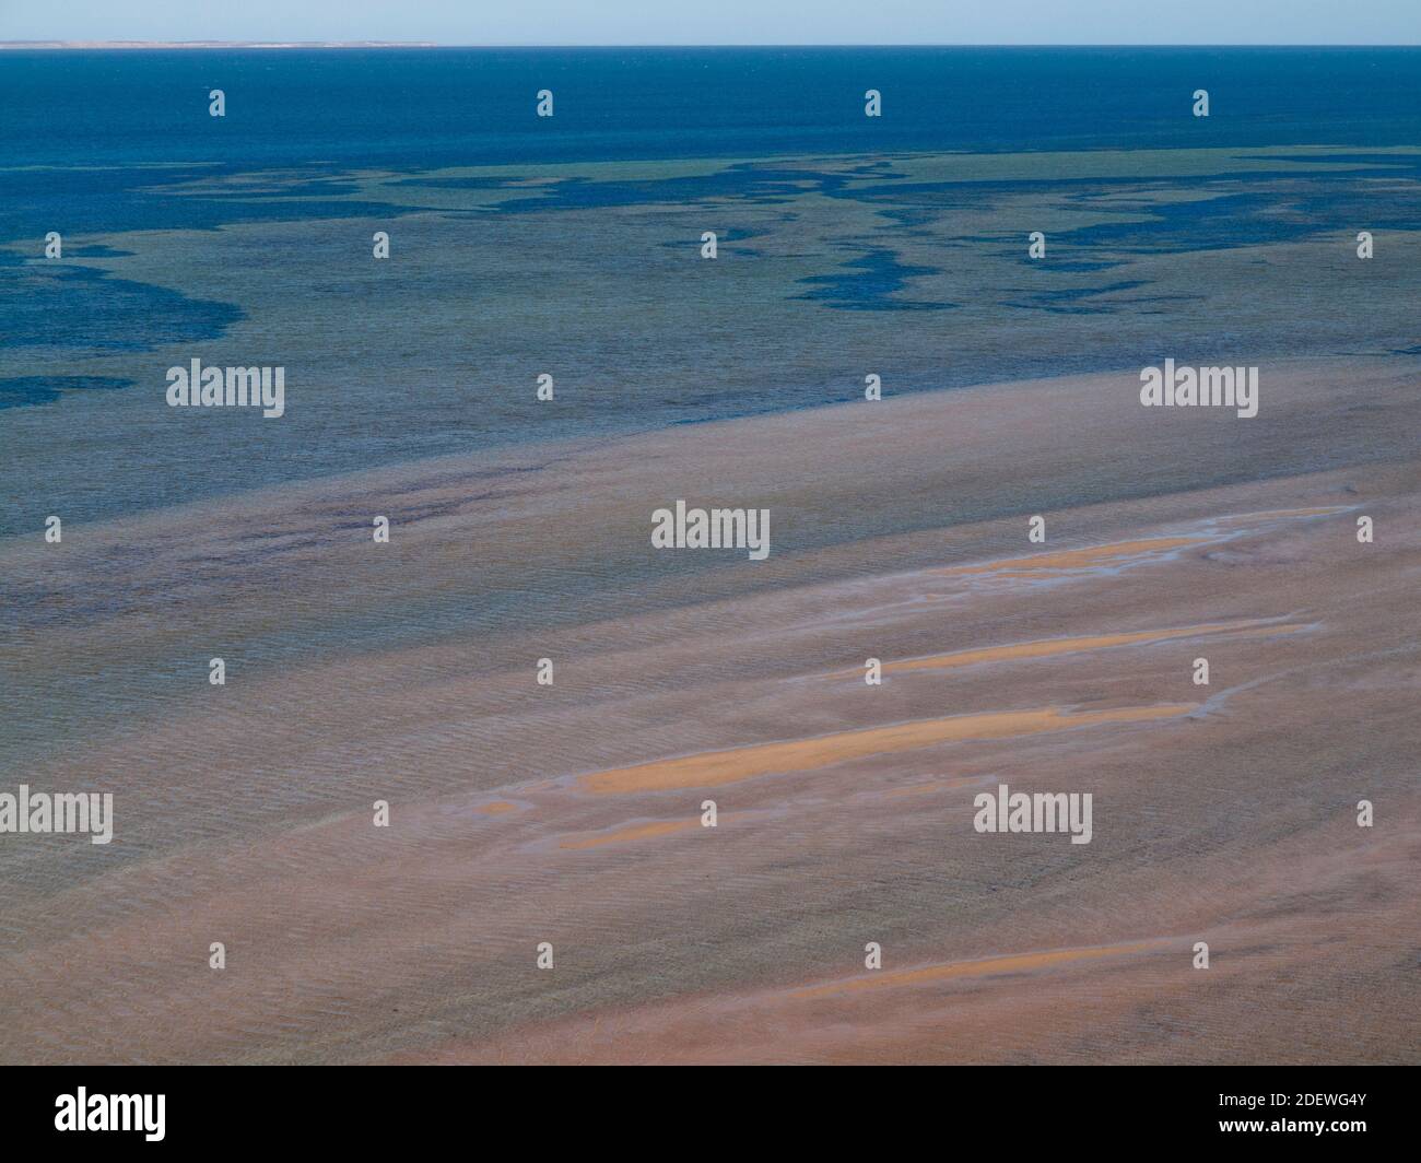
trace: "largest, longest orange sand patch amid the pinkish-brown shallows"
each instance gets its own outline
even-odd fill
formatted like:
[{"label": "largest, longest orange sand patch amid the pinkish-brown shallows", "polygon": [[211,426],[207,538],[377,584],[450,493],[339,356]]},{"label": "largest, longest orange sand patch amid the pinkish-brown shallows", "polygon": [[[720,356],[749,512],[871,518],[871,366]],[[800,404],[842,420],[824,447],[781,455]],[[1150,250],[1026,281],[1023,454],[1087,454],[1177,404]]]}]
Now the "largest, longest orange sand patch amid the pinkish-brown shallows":
[{"label": "largest, longest orange sand patch amid the pinkish-brown shallows", "polygon": [[1196,702],[1160,707],[1120,707],[1111,711],[1084,711],[1066,715],[1057,707],[1037,711],[996,711],[980,715],[953,715],[942,719],[918,719],[894,727],[840,731],[810,739],[705,751],[678,759],[658,759],[631,768],[584,775],[578,783],[588,792],[665,792],[676,788],[712,788],[737,783],[757,775],[814,771],[845,759],[915,751],[936,744],[1006,739],[1043,731],[1066,731],[1107,722],[1148,722],[1177,718],[1198,709]]}]

